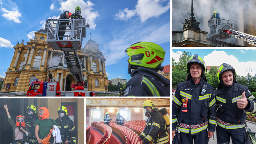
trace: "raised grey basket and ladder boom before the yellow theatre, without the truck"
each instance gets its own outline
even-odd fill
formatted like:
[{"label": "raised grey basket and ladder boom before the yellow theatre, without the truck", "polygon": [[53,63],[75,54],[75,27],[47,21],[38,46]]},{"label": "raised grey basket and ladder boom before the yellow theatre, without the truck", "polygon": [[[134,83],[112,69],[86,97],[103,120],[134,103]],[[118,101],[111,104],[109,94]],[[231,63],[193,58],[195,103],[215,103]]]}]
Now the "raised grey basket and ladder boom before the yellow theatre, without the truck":
[{"label": "raised grey basket and ladder boom before the yellow theatre, without the truck", "polygon": [[[61,27],[66,27],[66,30],[61,30]],[[45,24],[47,42],[53,50],[64,52],[67,68],[76,80],[75,90],[78,91],[84,90],[85,78],[76,50],[81,50],[82,40],[86,36],[85,30],[89,27],[85,19],[48,19]],[[62,36],[61,32],[65,34]],[[61,37],[63,40],[59,40]]]}]

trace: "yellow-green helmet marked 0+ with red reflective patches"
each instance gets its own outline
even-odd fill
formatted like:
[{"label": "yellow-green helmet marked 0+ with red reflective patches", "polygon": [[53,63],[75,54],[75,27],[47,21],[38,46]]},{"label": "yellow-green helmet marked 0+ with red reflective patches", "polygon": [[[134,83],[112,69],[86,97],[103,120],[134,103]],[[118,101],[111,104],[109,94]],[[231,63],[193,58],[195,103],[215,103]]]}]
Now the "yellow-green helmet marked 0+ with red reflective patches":
[{"label": "yellow-green helmet marked 0+ with red reflective patches", "polygon": [[130,57],[128,62],[134,66],[156,68],[164,61],[164,49],[152,42],[137,42],[132,44],[125,52]]}]

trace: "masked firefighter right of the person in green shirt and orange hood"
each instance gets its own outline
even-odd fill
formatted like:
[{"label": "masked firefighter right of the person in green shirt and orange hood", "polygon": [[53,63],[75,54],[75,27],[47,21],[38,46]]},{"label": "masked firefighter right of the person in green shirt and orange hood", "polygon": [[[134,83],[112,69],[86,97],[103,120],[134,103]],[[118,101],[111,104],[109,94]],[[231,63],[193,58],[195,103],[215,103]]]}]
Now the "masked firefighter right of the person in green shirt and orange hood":
[{"label": "masked firefighter right of the person in green shirt and orange hood", "polygon": [[61,106],[58,109],[59,118],[56,119],[58,128],[60,129],[60,136],[62,144],[68,141],[68,143],[76,144],[76,128],[74,122],[68,117],[68,109],[65,106]]}]

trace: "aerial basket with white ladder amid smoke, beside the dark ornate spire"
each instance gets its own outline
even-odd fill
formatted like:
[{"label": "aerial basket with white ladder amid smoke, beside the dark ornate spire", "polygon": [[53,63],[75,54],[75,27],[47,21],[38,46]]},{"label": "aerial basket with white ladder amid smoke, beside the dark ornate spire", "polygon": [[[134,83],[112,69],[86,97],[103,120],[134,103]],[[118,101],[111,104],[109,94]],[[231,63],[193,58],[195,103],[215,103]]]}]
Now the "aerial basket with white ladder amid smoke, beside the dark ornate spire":
[{"label": "aerial basket with white ladder amid smoke, beside the dark ornate spire", "polygon": [[256,36],[234,30],[234,23],[230,20],[213,18],[208,21],[208,27],[210,28],[210,38],[228,39],[234,36],[256,46]]}]

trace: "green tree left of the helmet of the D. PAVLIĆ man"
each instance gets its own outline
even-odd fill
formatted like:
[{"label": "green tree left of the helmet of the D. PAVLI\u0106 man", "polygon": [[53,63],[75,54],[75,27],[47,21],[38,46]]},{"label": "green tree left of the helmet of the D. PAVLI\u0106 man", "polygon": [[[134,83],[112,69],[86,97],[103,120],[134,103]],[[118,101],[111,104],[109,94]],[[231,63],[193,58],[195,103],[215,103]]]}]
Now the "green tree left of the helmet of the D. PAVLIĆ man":
[{"label": "green tree left of the helmet of the D. PAVLI\u0106 man", "polygon": [[184,73],[187,73],[187,62],[191,56],[191,52],[183,51],[175,68],[181,70]]}]

